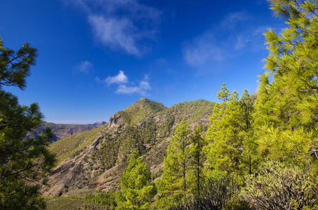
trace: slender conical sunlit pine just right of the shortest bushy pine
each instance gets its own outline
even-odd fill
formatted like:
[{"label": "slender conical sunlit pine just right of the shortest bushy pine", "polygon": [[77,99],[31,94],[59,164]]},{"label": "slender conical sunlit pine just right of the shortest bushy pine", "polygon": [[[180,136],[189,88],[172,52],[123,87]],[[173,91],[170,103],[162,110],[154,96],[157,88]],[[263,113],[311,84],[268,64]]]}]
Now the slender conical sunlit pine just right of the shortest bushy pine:
[{"label": "slender conical sunlit pine just right of the shortest bushy pine", "polygon": [[176,204],[189,189],[187,180],[190,158],[189,134],[188,127],[182,120],[167,148],[162,179],[155,182],[160,194],[156,200],[157,207],[168,207]]}]

